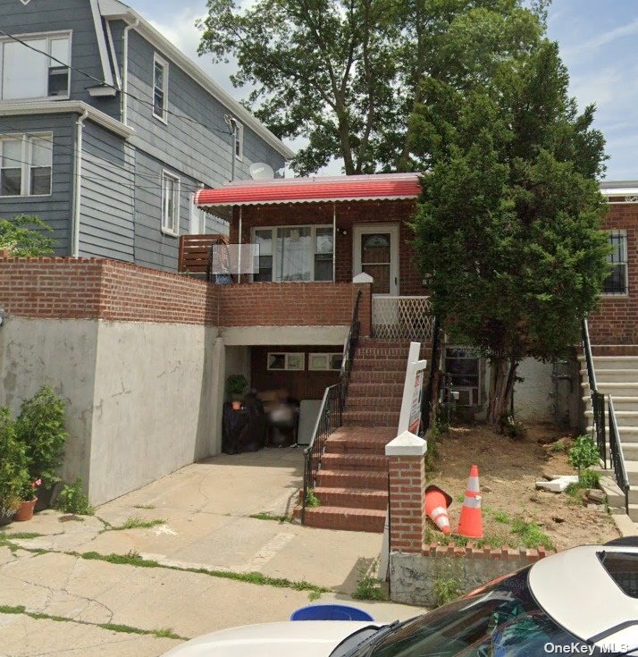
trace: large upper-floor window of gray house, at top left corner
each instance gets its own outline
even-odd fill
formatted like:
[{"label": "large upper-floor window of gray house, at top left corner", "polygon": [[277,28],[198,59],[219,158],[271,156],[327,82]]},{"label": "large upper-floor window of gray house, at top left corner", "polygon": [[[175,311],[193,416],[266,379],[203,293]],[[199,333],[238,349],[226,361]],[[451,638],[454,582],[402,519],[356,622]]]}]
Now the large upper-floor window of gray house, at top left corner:
[{"label": "large upper-floor window of gray house, at top left corner", "polygon": [[71,33],[0,38],[0,100],[68,98]]}]

